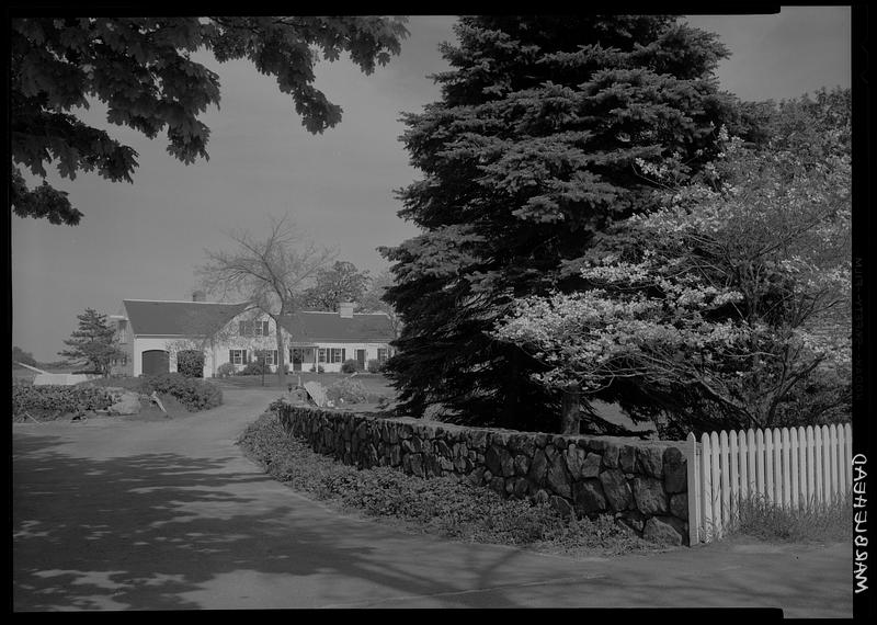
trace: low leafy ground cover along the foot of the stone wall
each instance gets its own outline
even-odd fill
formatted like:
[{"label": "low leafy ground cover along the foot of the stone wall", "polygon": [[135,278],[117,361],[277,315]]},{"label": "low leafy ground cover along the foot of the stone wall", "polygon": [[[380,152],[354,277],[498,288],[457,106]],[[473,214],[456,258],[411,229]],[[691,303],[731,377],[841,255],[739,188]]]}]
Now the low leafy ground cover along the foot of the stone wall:
[{"label": "low leafy ground cover along the foot of the stone wall", "polygon": [[465,480],[424,480],[389,467],[343,465],[287,439],[271,412],[250,424],[238,444],[266,473],[293,489],[409,531],[569,555],[654,548],[616,525],[611,516],[565,520],[547,504],[505,500]]}]

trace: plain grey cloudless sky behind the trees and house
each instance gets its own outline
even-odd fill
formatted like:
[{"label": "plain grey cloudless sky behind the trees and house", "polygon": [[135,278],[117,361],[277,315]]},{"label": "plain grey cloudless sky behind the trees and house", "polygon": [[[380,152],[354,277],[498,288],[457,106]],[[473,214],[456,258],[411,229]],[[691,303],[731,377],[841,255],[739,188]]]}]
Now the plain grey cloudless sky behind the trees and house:
[{"label": "plain grey cloudless sky behind the trees and house", "polygon": [[[851,84],[848,7],[784,7],[767,15],[690,15],[730,49],[717,75],[741,100],[782,100]],[[221,81],[210,128],[209,160],[185,166],[166,140],[103,122],[94,104],[86,122],[138,154],[134,183],[81,173],[50,173],[84,213],[79,226],[11,217],[12,344],[39,362],[59,360],[64,340],[86,308],[115,314],[123,299],[191,299],[205,250],[231,249],[228,234],[266,234],[284,214],[305,240],[334,249],[339,260],[376,274],[376,251],[415,236],[397,216],[394,191],[419,178],[399,136],[403,112],[441,99],[430,75],[448,69],[438,52],[456,41],[453,16],[417,15],[401,54],[372,76],[341,59],[317,67],[315,86],[343,109],[341,123],[311,135],[271,77],[247,61],[201,63]]]}]

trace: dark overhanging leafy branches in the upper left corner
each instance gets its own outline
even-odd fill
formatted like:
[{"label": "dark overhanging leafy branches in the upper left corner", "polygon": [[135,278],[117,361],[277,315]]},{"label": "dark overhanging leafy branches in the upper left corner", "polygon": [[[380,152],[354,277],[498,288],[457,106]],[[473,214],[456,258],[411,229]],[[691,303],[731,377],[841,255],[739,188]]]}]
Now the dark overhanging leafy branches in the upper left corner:
[{"label": "dark overhanging leafy branches in the upper left corner", "polygon": [[[11,206],[22,217],[79,224],[82,213],[45,182],[46,163],[72,180],[94,171],[132,182],[137,152],[76,110],[92,99],[107,122],[155,138],[184,163],[208,158],[198,114],[219,104],[219,77],[192,59],[206,48],[225,63],[249,59],[274,76],[311,133],[341,121],[341,107],[314,87],[320,54],[348,53],[364,72],[398,54],[405,20],[378,16],[16,18],[10,29]],[[44,179],[29,189],[19,166]]]}]

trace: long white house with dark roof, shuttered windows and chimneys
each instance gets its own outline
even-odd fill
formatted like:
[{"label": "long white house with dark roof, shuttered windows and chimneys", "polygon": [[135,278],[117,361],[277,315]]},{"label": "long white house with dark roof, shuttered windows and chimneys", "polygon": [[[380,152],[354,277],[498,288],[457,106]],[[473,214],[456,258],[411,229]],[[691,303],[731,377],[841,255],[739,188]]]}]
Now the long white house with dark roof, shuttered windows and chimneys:
[{"label": "long white house with dark roof, shuttered windows and chimneys", "polygon": [[[274,320],[246,302],[205,302],[201,292],[191,302],[125,299],[110,319],[126,354],[112,365],[116,375],[175,372],[176,355],[186,350],[204,354],[205,377],[225,363],[239,371],[262,356],[274,371],[278,362]],[[352,304],[342,304],[338,312],[286,316],[281,331],[291,372],[339,372],[346,360],[358,361],[361,368],[371,360],[383,363],[394,339],[386,315],[353,312]]]}]

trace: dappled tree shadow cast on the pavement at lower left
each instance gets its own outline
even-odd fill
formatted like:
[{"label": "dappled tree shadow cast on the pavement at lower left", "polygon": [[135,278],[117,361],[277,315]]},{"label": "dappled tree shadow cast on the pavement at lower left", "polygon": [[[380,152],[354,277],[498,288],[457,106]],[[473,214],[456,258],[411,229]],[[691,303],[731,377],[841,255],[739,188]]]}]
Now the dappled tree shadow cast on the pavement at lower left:
[{"label": "dappled tree shadow cast on the pavement at lower left", "polygon": [[[212,581],[242,571],[255,580],[298,576],[308,588],[315,583],[308,576],[343,576],[391,595],[446,593],[448,606],[474,601],[423,567],[412,568],[410,554],[377,553],[368,542],[374,525],[327,524],[324,511],[308,502],[308,512],[292,495],[271,505],[248,496],[277,485],[227,470],[229,458],[155,453],[89,459],[66,455],[57,444],[47,434],[14,441],[15,611],[196,610]],[[485,565],[470,572],[479,583],[499,584],[490,579],[496,562]],[[351,600],[330,584],[318,593],[301,606]],[[497,607],[514,606],[497,601]]]}]

